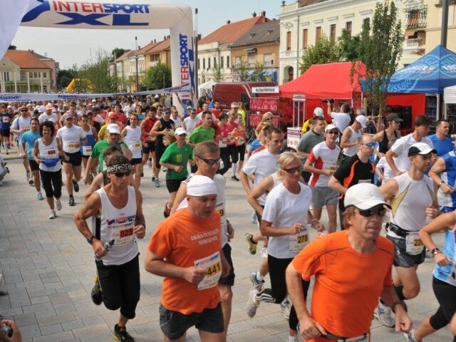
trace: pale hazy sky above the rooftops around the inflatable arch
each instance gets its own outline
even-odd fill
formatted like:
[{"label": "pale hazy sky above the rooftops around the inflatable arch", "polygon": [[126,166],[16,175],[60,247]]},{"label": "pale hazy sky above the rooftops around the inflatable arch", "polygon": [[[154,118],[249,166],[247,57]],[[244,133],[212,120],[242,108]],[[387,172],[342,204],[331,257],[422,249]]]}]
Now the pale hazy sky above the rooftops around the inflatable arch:
[{"label": "pale hazy sky above the rooftops around the inflatable arch", "polygon": [[[103,2],[103,1],[99,1]],[[266,11],[266,17],[273,19],[280,12],[281,0],[126,0],[128,4],[150,3],[169,5],[190,5],[194,13],[193,24],[202,37],[215,29],[232,22],[252,17],[252,13]],[[291,4],[292,1],[287,1]],[[197,17],[195,9],[198,9]],[[196,28],[195,28],[196,29]],[[81,28],[41,28],[20,26],[12,45],[18,50],[31,49],[43,56],[53,58],[61,69],[81,66],[95,56],[99,48],[110,53],[113,48],[135,49],[135,36],[138,46],[146,46],[154,38],[162,40],[169,30],[89,30]]]}]

